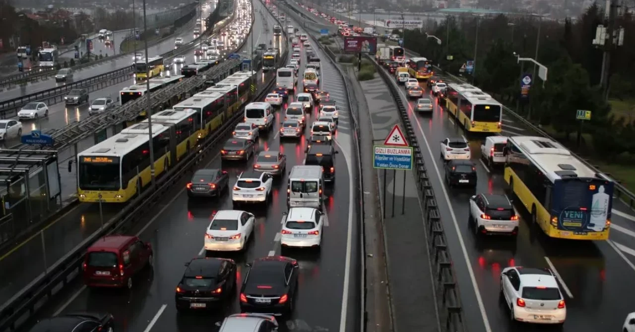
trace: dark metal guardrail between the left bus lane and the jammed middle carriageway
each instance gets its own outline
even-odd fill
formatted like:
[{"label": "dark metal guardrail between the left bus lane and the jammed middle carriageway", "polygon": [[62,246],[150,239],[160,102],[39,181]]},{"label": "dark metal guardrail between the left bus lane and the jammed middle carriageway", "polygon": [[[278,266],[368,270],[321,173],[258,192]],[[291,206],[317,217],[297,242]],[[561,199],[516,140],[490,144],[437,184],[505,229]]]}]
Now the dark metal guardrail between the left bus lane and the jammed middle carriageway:
[{"label": "dark metal guardrail between the left bus lane and the jammed middle carriageway", "polygon": [[[243,43],[244,45],[244,43]],[[243,46],[241,45],[241,47]],[[288,53],[281,57],[280,63],[286,63]],[[264,98],[272,88],[275,80],[272,79],[267,86],[258,93],[256,100]],[[81,273],[81,265],[84,260],[86,249],[93,242],[103,236],[109,234],[124,234],[130,230],[137,222],[143,220],[145,216],[152,213],[154,205],[165,197],[165,193],[172,189],[183,176],[187,175],[187,171],[192,171],[194,166],[201,163],[207,154],[210,154],[210,148],[222,142],[227,133],[229,133],[234,125],[241,121],[243,115],[236,112],[230,121],[227,121],[219,128],[215,135],[211,135],[201,145],[200,149],[196,149],[185,159],[180,161],[174,167],[171,167],[166,176],[159,178],[156,188],[145,190],[133,202],[128,204],[116,216],[111,218],[97,232],[93,233],[86,240],[78,244],[72,251],[64,255],[57,263],[48,269],[48,272],[36,280],[30,282],[28,286],[21,289],[8,302],[0,307],[0,331],[15,331],[18,327],[25,324],[28,318],[36,314],[37,310],[42,307],[43,299],[50,299],[57,292],[61,291],[72,279]],[[61,287],[60,287],[61,285]]]}]

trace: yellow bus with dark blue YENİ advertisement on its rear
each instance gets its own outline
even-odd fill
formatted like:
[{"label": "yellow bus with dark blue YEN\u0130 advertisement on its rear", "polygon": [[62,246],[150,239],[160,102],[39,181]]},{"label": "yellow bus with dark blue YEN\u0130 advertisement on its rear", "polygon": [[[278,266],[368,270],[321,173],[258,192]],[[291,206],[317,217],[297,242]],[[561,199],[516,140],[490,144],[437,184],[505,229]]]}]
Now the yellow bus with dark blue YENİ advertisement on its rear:
[{"label": "yellow bus with dark blue YEN\u0130 advertisement on its rear", "polygon": [[549,237],[606,240],[614,183],[573,156],[560,143],[514,136],[503,150],[505,182]]}]

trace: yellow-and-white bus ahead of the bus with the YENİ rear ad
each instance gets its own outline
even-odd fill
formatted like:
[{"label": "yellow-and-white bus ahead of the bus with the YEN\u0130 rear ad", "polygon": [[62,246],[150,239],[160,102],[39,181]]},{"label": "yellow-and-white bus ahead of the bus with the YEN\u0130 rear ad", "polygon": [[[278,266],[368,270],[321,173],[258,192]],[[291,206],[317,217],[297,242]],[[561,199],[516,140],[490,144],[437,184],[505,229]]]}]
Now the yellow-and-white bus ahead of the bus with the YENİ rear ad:
[{"label": "yellow-and-white bus ahead of the bus with the YEN\u0130 rear ad", "polygon": [[471,84],[448,84],[446,109],[467,131],[500,133],[503,106]]}]

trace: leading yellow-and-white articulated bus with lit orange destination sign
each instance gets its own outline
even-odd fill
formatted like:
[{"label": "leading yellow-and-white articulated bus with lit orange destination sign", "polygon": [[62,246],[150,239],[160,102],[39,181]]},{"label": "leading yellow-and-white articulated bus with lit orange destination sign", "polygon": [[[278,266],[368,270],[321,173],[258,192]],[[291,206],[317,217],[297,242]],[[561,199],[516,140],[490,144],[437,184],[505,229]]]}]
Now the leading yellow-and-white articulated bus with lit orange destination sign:
[{"label": "leading yellow-and-white articulated bus with lit orange destination sign", "polygon": [[[150,183],[147,123],[137,123],[77,155],[80,202],[125,203]],[[155,175],[170,166],[171,147],[178,145],[174,127],[152,124]]]}]

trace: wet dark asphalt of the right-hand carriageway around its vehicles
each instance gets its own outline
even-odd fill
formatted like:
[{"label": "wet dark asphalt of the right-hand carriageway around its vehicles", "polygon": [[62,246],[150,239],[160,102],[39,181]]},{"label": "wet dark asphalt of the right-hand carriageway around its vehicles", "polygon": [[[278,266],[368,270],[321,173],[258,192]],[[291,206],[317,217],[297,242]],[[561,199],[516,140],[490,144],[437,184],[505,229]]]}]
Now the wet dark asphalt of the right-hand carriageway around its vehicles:
[{"label": "wet dark asphalt of the right-hand carriageway around its vehicles", "polygon": [[[414,103],[410,103],[413,107]],[[435,104],[436,105],[436,104]],[[411,108],[412,109],[412,108]],[[411,112],[413,113],[413,112]],[[413,117],[419,117],[411,114]],[[429,122],[429,126],[423,131],[427,140],[432,142],[432,155],[439,148],[434,148],[434,144],[448,136],[462,135],[462,129],[457,128],[452,117],[441,107],[436,106],[432,119],[418,119]],[[478,144],[478,151],[480,143]],[[629,269],[624,260],[605,241],[582,242],[568,241],[566,246],[561,241],[549,241],[540,230],[530,227],[526,220],[529,216],[526,211],[519,207],[519,235],[516,241],[513,239],[497,239],[495,237],[482,239],[475,235],[475,229],[469,227],[467,218],[469,215],[469,196],[479,192],[491,194],[505,194],[507,188],[500,169],[490,173],[485,164],[478,159],[479,154],[475,153],[474,143],[470,143],[472,150],[472,161],[476,164],[478,173],[478,184],[476,190],[449,189],[451,206],[455,211],[457,221],[460,226],[461,236],[465,246],[469,248],[468,255],[474,275],[478,282],[479,289],[483,295],[490,323],[499,328],[513,329],[509,324],[508,313],[500,308],[497,290],[500,289],[500,271],[505,267],[519,265],[540,268],[551,268],[561,276],[561,285],[566,294],[568,302],[568,319],[566,330],[573,331],[585,328],[586,330],[598,329],[600,326],[585,324],[579,326],[571,322],[584,321],[584,315],[589,310],[607,311],[603,317],[612,316],[612,321],[620,322],[624,317],[624,310],[618,310],[614,304],[616,298],[620,298],[622,293],[619,287],[612,287],[613,284],[623,285],[622,275],[632,275],[635,271]],[[443,168],[443,161],[440,157],[434,161],[438,168]],[[443,171],[441,171],[443,176]],[[446,187],[446,189],[448,189]],[[551,263],[552,266],[549,264]],[[617,273],[610,276],[609,270]],[[628,284],[632,284],[632,279]],[[566,286],[565,286],[566,285]],[[589,291],[593,289],[593,291]],[[528,326],[530,330],[535,326]]]}]

